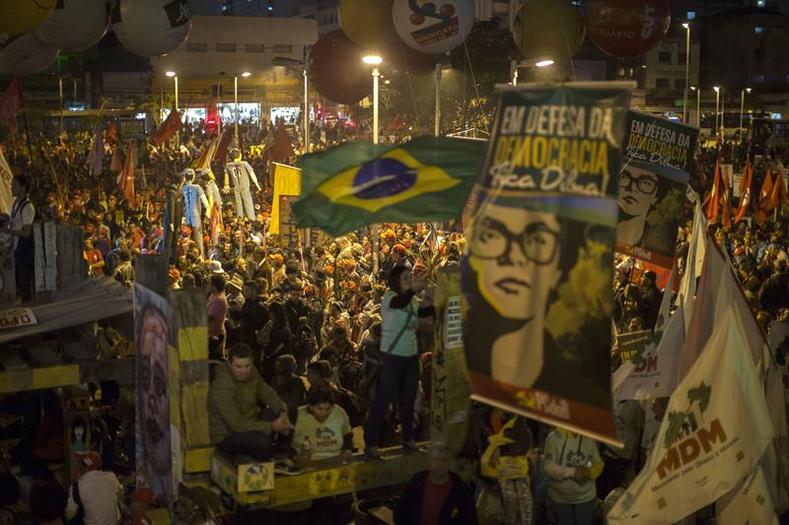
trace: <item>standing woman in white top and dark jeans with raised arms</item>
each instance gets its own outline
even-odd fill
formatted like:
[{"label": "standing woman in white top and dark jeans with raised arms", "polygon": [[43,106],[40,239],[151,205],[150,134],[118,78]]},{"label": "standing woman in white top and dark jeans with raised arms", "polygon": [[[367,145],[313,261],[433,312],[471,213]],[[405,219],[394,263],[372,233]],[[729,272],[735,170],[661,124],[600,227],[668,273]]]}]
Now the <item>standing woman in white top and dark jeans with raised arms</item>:
[{"label": "standing woman in white top and dark jeans with raised arms", "polygon": [[411,269],[406,266],[395,266],[389,272],[389,290],[381,301],[383,363],[379,365],[375,400],[364,428],[365,455],[370,459],[380,458],[378,440],[396,392],[400,394],[403,452],[410,454],[417,450],[413,436],[414,401],[419,382],[416,329],[419,317],[434,313],[432,305],[423,303],[420,307],[414,297],[424,289],[425,279],[412,279]]}]

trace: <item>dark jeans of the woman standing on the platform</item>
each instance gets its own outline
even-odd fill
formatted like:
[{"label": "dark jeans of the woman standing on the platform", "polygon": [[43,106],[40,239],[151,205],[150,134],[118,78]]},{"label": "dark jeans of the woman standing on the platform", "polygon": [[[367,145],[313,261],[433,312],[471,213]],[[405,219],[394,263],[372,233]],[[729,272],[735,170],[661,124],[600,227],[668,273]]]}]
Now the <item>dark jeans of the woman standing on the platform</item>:
[{"label": "dark jeans of the woman standing on the platform", "polygon": [[414,438],[414,402],[419,380],[417,356],[385,355],[381,376],[375,390],[373,408],[367,416],[364,441],[367,447],[377,447],[389,404],[399,392],[400,423],[403,426],[403,443]]}]

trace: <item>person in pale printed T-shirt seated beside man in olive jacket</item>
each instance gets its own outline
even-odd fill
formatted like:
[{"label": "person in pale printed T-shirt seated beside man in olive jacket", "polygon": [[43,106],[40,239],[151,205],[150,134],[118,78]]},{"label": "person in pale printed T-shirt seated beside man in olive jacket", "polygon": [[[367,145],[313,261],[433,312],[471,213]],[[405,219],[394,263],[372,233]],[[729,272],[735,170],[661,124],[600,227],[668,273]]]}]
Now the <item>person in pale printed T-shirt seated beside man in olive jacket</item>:
[{"label": "person in pale printed T-shirt seated beside man in olive jacket", "polygon": [[293,447],[297,459],[327,459],[341,456],[349,461],[353,453],[353,432],[348,414],[334,404],[332,392],[313,387],[307,393],[307,404],[299,407]]}]

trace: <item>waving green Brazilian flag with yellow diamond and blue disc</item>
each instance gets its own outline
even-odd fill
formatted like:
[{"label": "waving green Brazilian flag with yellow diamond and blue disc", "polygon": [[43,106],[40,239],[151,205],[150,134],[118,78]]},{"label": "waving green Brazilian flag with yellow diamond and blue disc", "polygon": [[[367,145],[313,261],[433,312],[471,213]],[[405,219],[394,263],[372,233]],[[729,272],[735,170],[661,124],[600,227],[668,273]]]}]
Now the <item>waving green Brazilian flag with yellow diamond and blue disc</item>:
[{"label": "waving green Brazilian flag with yellow diamond and blue disc", "polygon": [[419,137],[399,146],[350,142],[306,155],[293,212],[300,227],[335,236],[379,222],[456,219],[486,149],[478,140]]}]

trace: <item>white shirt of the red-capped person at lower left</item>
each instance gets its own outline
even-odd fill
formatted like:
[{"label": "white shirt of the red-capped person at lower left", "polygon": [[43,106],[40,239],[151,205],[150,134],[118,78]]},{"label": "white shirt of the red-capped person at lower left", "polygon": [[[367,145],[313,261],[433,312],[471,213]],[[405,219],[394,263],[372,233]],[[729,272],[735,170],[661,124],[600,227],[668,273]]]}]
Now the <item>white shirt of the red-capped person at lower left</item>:
[{"label": "white shirt of the red-capped person at lower left", "polygon": [[[91,470],[79,478],[79,496],[85,509],[85,525],[116,525],[121,517],[118,508],[118,495],[123,486],[112,472]],[[73,488],[69,488],[66,518],[71,520],[77,514]]]}]

